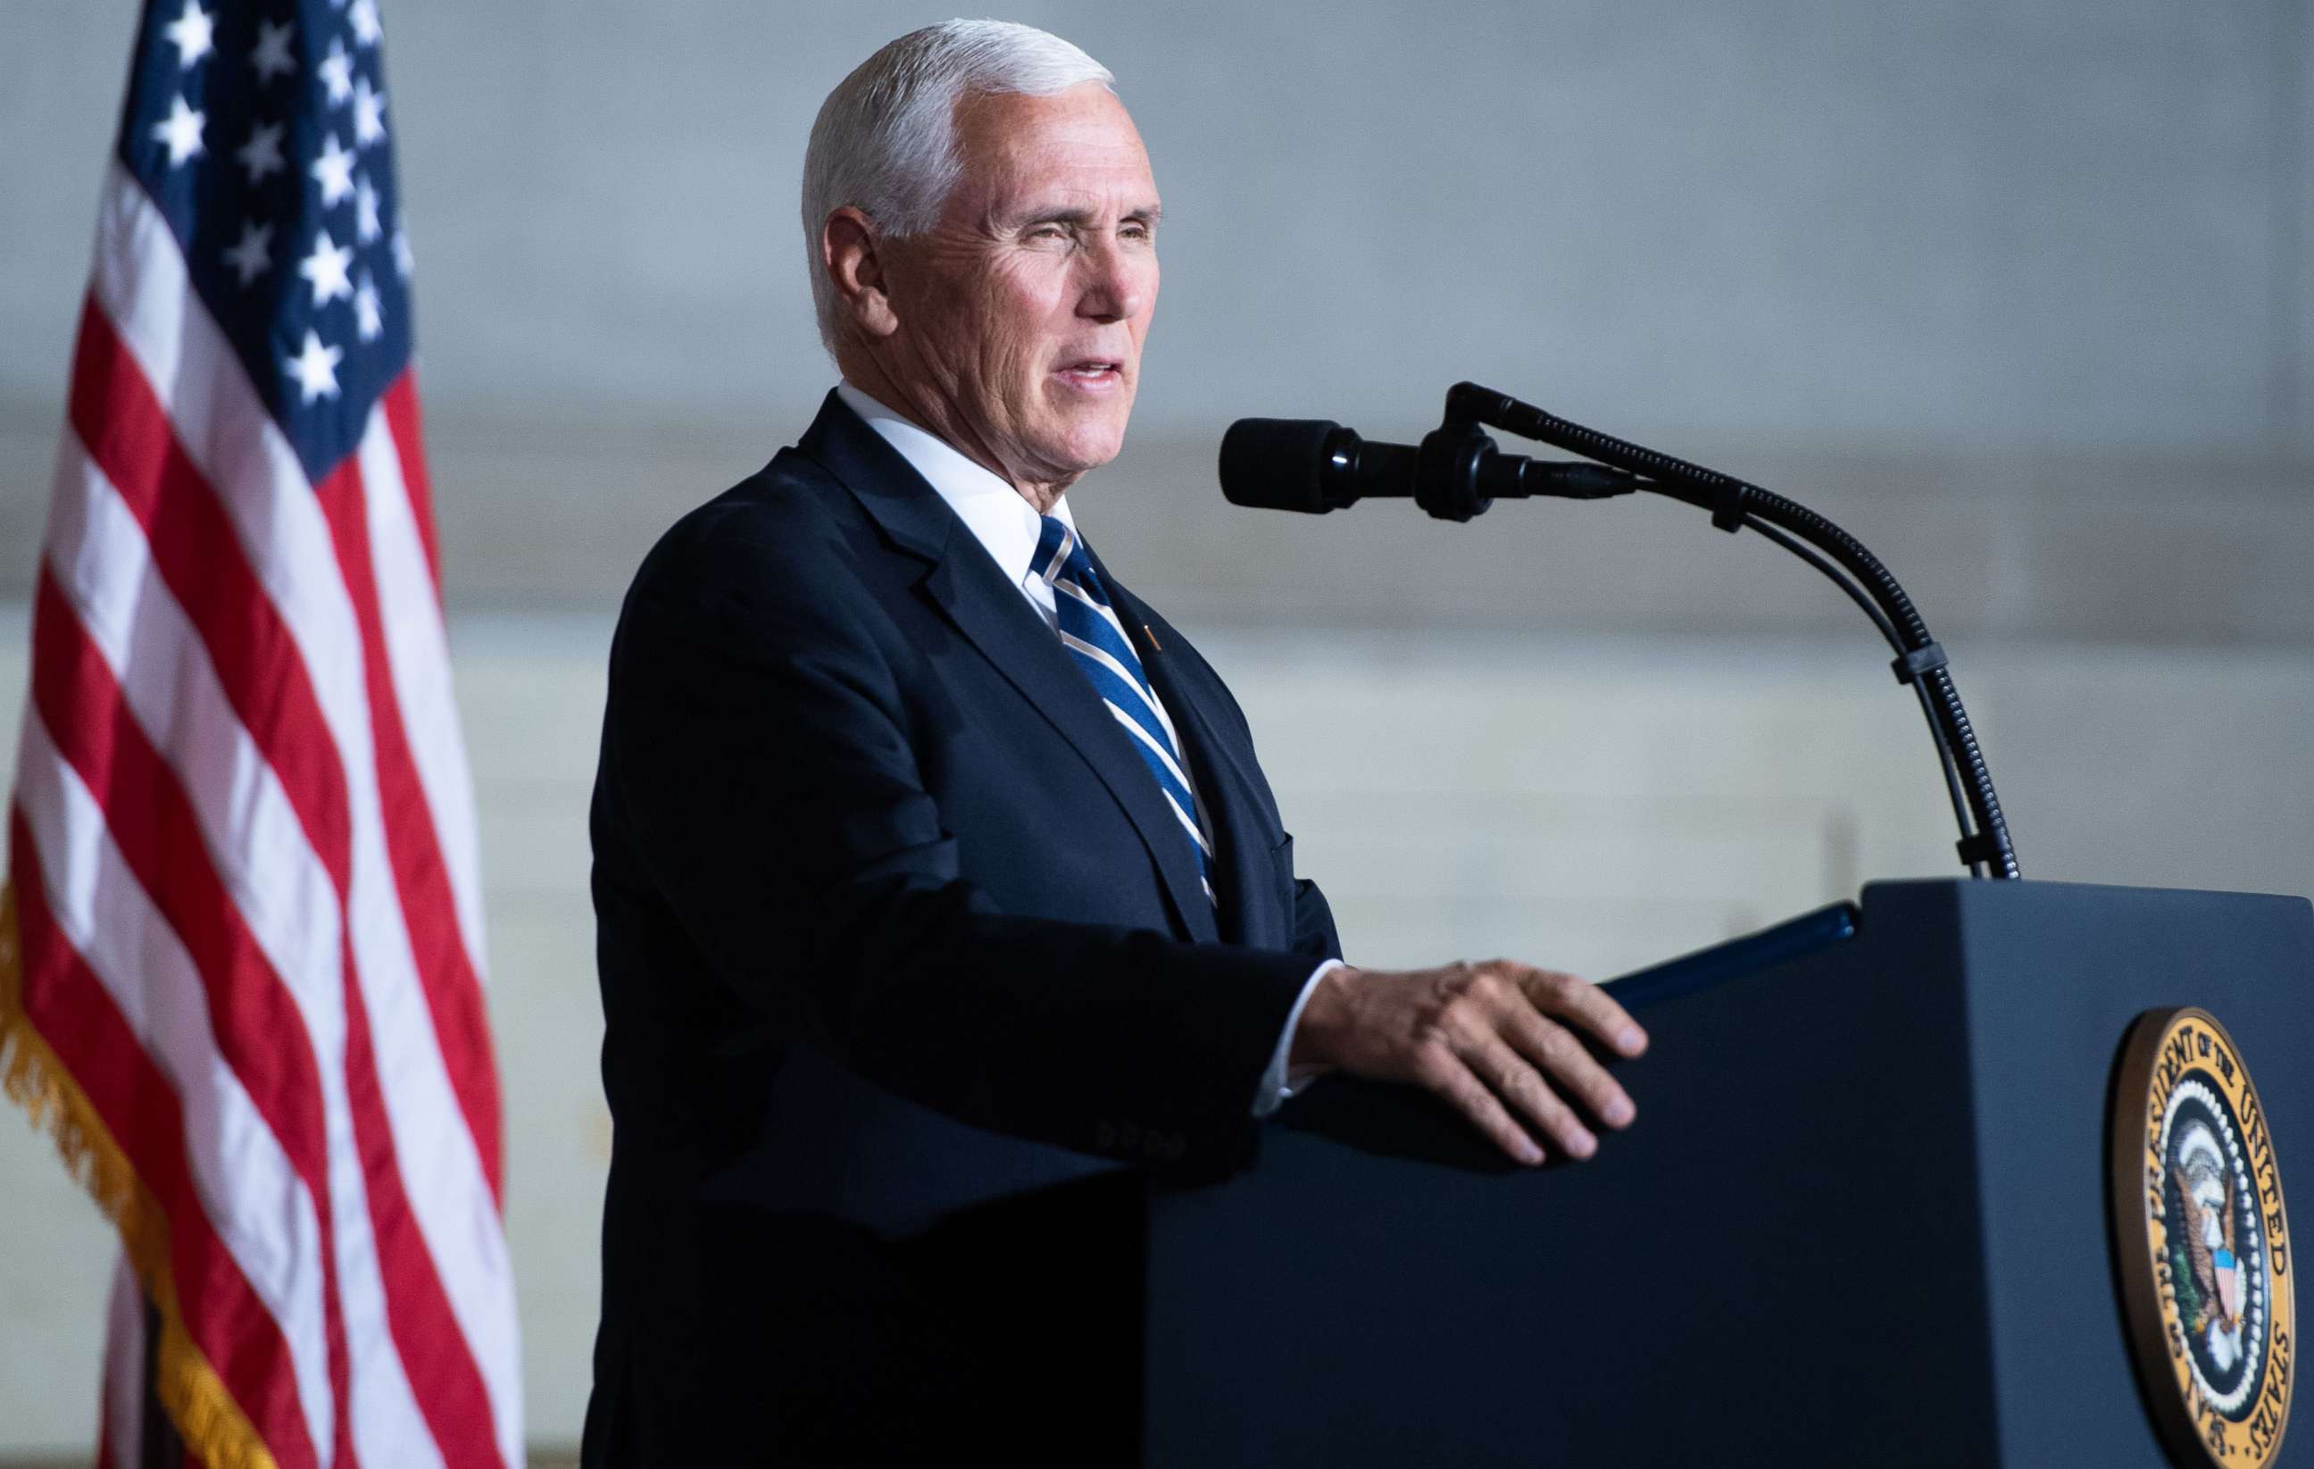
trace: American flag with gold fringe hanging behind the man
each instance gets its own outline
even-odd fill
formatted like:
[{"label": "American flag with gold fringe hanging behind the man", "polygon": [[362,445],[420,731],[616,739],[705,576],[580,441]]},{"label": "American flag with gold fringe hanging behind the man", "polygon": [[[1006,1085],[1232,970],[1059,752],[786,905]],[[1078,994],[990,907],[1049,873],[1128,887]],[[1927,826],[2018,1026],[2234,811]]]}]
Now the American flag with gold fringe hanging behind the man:
[{"label": "American flag with gold fringe hanging behind the man", "polygon": [[9,1090],[120,1226],[120,1469],[521,1462],[393,130],[375,0],[143,7],[0,905]]}]

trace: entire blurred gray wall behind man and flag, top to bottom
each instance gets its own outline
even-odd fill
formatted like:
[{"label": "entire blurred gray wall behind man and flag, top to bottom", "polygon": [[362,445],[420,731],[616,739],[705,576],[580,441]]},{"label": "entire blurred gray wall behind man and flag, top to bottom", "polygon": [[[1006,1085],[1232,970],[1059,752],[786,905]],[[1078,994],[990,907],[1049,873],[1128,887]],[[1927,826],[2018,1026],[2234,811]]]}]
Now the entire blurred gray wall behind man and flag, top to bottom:
[{"label": "entire blurred gray wall behind man and flag, top to bottom", "polygon": [[[942,12],[386,0],[484,812],[539,1444],[609,1122],[578,819],[650,537],[828,384],[794,180]],[[2314,23],[2295,0],[1030,5],[1166,197],[1104,558],[1243,694],[1351,955],[1594,974],[1941,872],[1854,611],[1655,502],[1219,504],[1238,414],[1412,437],[1476,377],[1828,509],[1958,659],[2036,877],[2314,891]],[[134,7],[0,7],[0,729]],[[0,780],[12,752],[0,750]],[[109,1252],[0,1120],[0,1457],[93,1420]]]}]

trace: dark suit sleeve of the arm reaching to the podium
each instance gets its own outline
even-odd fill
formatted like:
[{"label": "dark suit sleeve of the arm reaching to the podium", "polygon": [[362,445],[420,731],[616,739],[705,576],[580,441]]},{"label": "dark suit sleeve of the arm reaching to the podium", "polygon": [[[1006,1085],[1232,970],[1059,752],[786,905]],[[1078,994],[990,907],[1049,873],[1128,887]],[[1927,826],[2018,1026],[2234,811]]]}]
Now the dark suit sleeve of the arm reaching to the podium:
[{"label": "dark suit sleeve of the arm reaching to the podium", "polygon": [[[923,789],[882,613],[826,558],[708,539],[662,546],[629,592],[604,773],[634,870],[715,981],[963,1122],[1236,1166],[1310,958],[995,911]],[[1333,942],[1314,888],[1296,932]]]}]

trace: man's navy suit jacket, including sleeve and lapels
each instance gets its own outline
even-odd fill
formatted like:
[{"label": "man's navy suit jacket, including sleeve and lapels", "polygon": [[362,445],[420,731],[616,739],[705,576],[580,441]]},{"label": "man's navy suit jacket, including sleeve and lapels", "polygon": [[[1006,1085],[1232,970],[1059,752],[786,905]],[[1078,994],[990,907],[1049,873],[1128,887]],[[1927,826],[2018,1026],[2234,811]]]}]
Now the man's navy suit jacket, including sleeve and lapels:
[{"label": "man's navy suit jacket, including sleeve and lapels", "polygon": [[[1113,1159],[1250,1157],[1333,918],[1219,676],[1099,571],[1219,911],[1051,627],[833,393],[646,558],[592,805],[616,1131],[588,1462],[761,1444],[761,1402],[720,1397],[872,1316],[845,1282],[879,1242]],[[757,1360],[766,1316],[789,1339]]]}]

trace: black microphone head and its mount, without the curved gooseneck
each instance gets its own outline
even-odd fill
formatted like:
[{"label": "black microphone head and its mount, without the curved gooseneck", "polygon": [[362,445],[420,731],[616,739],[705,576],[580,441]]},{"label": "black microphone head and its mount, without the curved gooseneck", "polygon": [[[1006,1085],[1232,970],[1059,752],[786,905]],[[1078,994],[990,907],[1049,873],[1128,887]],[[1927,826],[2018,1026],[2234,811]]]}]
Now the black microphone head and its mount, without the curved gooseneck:
[{"label": "black microphone head and its mount, without the curved gooseneck", "polygon": [[1641,488],[1606,465],[1502,453],[1476,426],[1421,444],[1381,444],[1331,419],[1238,419],[1222,435],[1222,495],[1252,509],[1312,516],[1358,500],[1412,497],[1439,521],[1469,521],[1495,500],[1606,500]]}]

